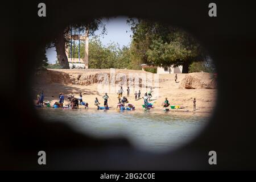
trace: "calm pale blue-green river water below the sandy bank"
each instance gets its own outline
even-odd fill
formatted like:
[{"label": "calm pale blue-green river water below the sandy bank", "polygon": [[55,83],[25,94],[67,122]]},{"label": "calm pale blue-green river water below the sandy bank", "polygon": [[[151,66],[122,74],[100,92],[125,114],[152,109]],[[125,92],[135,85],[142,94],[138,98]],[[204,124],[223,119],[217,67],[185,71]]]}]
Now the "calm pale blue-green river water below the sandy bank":
[{"label": "calm pale blue-green river water below the sandy bank", "polygon": [[151,111],[116,111],[39,108],[47,122],[62,122],[80,133],[97,138],[117,135],[127,137],[142,150],[164,152],[196,137],[208,122],[199,113],[158,113]]}]

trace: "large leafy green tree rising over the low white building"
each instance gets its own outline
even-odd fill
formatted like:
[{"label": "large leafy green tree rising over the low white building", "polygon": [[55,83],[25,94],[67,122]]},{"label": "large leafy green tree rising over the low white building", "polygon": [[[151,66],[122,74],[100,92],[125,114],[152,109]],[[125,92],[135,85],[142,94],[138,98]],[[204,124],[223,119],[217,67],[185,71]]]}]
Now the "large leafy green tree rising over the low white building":
[{"label": "large leafy green tree rising over the low white building", "polygon": [[188,73],[193,61],[203,61],[200,44],[180,28],[145,19],[127,22],[133,31],[131,49],[138,64],[183,65],[183,73]]}]

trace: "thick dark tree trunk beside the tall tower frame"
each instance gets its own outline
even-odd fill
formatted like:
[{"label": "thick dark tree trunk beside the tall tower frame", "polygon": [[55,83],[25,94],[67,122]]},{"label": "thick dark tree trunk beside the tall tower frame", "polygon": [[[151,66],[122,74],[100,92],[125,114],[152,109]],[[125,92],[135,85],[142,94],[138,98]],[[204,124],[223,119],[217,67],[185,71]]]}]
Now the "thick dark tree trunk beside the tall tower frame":
[{"label": "thick dark tree trunk beside the tall tower frame", "polygon": [[63,32],[57,36],[55,41],[57,59],[63,69],[69,69],[68,57],[65,52],[65,38]]}]

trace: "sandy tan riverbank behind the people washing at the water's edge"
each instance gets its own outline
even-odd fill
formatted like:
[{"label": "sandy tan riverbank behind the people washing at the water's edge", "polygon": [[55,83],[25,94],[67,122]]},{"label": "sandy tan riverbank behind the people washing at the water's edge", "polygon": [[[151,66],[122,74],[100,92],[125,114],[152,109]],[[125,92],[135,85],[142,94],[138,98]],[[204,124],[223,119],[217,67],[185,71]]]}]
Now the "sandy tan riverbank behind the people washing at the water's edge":
[{"label": "sandy tan riverbank behind the people washing at the water's edge", "polygon": [[[97,80],[96,76],[98,73],[108,73],[109,69],[51,69],[46,71],[41,71],[36,74],[33,92],[40,92],[40,90],[44,90],[44,100],[51,101],[51,105],[59,101],[59,93],[63,93],[65,96],[64,105],[68,104],[68,96],[75,96],[79,98],[79,93],[82,92],[82,100],[88,102],[89,109],[96,109],[94,106],[95,97],[98,97],[101,105],[103,105],[104,101],[102,96],[104,93],[99,92],[98,85],[100,84],[100,80]],[[118,69],[115,70],[115,75],[118,73],[122,73],[125,75],[129,75],[129,73],[138,73],[145,74],[148,72],[144,71],[134,71],[134,70],[125,70]],[[171,112],[175,112],[176,114],[184,113],[184,111],[192,112],[192,113],[211,113],[214,109],[217,89],[206,89],[206,88],[196,88],[196,89],[184,89],[180,88],[180,84],[182,83],[183,78],[186,75],[190,75],[195,77],[197,80],[200,80],[203,83],[210,82],[211,76],[209,73],[188,73],[188,74],[177,74],[177,82],[174,81],[174,74],[162,74],[162,75],[153,75],[152,77],[158,78],[158,86],[154,88],[154,92],[158,92],[158,97],[154,103],[154,108],[151,111],[161,112],[163,111],[162,102],[164,98],[167,97],[171,105],[179,105],[184,106],[185,109],[170,109]],[[156,77],[155,77],[156,76]],[[127,76],[129,77],[129,76]],[[116,81],[116,85],[118,87],[120,84]],[[141,86],[145,86],[146,84],[141,83]],[[118,89],[118,88],[117,88]],[[123,86],[125,93],[123,96],[126,96],[127,92],[126,86]],[[141,90],[147,88],[140,88]],[[138,91],[138,90],[136,90]],[[143,110],[143,99],[135,101],[133,90],[130,93],[130,96],[127,97],[130,104],[135,106],[135,110]],[[109,93],[108,104],[110,109],[114,109],[117,106],[117,94]],[[156,94],[155,94],[156,95]],[[141,97],[143,96],[143,92]],[[34,98],[35,102],[36,99]],[[196,106],[197,110],[193,111],[193,98],[196,98]],[[82,106],[81,106],[82,107]],[[83,107],[82,107],[83,108]]]}]

